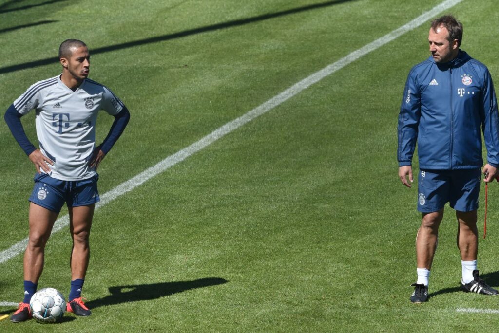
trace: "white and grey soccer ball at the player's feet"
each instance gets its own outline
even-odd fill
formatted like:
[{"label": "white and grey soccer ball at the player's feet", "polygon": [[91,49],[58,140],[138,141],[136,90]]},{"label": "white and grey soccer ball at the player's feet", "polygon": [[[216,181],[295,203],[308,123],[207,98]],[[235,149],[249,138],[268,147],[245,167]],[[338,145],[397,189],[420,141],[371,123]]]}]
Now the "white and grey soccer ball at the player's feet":
[{"label": "white and grey soccer ball at the player's feet", "polygon": [[66,311],[64,296],[54,288],[38,290],[29,301],[31,315],[39,323],[55,323]]}]

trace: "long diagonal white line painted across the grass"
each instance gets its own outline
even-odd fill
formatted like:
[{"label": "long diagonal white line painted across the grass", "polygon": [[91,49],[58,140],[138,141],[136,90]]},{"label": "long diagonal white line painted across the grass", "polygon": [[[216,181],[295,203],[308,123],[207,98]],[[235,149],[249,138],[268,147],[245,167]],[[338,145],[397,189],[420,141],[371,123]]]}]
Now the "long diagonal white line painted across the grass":
[{"label": "long diagonal white line painted across the grass", "polygon": [[[397,37],[400,37],[404,33],[420,26],[427,20],[433,18],[443,10],[446,10],[459,2],[463,0],[446,0],[439,5],[435,6],[431,10],[421,14],[420,16],[416,17],[409,23],[402,25],[396,30],[393,30],[392,32],[384,35],[381,38],[376,39],[375,41],[353,51],[352,53],[348,54],[344,58],[341,58],[340,60],[324,67],[323,69],[313,73],[312,75],[304,78],[303,80],[299,81],[298,83],[294,84],[293,86],[289,87],[288,89],[284,90],[280,94],[272,97],[265,103],[261,104],[260,106],[254,108],[253,110],[249,111],[245,115],[225,124],[224,126],[216,129],[206,137],[202,138],[198,142],[195,142],[191,146],[184,148],[183,150],[177,152],[174,155],[171,155],[164,159],[163,161],[159,162],[155,166],[151,166],[147,170],[144,170],[143,172],[139,173],[135,177],[131,178],[130,180],[125,181],[124,183],[118,185],[117,187],[113,188],[109,192],[104,193],[101,195],[100,199],[101,201],[96,205],[96,209],[99,209],[100,207],[106,205],[107,203],[111,202],[112,200],[116,199],[118,196],[123,195],[132,189],[134,189],[137,186],[140,186],[142,183],[145,181],[151,179],[152,177],[156,176],[157,174],[165,171],[166,169],[175,166],[176,164],[184,161],[191,155],[199,152],[200,150],[204,149],[205,147],[211,145],[218,139],[222,138],[223,136],[237,130],[238,128],[242,127],[243,125],[249,123],[256,117],[268,112],[269,110],[272,110],[276,106],[284,103],[286,100],[289,98],[299,94],[309,86],[311,86],[314,83],[317,83],[318,81],[322,80],[323,78],[331,75],[332,73],[336,72],[337,70],[345,67],[346,65],[354,62],[355,60],[359,59],[360,57],[366,55],[367,53],[374,51],[375,49],[389,43],[390,41],[394,40]],[[68,215],[61,216],[55,221],[54,227],[52,229],[52,234],[59,231],[60,229],[64,228],[66,225],[69,223],[69,217]],[[7,261],[8,259],[16,256],[17,254],[21,253],[24,251],[26,248],[28,239],[25,238],[18,243],[12,245],[10,248],[3,250],[0,252],[0,264]]]}]

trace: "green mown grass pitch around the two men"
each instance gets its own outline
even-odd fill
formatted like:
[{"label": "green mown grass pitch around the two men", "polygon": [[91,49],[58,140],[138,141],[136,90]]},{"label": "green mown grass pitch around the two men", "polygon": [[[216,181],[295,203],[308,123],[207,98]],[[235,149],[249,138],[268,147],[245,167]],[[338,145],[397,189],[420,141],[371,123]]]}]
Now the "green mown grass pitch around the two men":
[{"label": "green mown grass pitch around the two men", "polygon": [[[0,0],[0,111],[55,76],[66,38],[131,122],[102,163],[101,194],[442,0]],[[499,84],[493,0],[446,12]],[[430,302],[415,282],[416,189],[397,177],[397,115],[429,22],[305,89],[95,213],[82,296],[93,315],[1,332],[489,332],[499,298],[459,291],[448,208]],[[97,141],[113,118],[99,116]],[[34,116],[22,119],[36,142]],[[0,251],[27,236],[34,168],[0,122]],[[417,167],[417,165],[415,166]],[[499,185],[479,269],[499,286]],[[482,194],[483,194],[482,190]],[[479,229],[484,197],[481,197]],[[65,214],[63,210],[61,215]],[[68,228],[39,287],[69,291]],[[22,297],[22,255],[0,264],[0,302]],[[13,306],[0,307],[0,315]]]}]

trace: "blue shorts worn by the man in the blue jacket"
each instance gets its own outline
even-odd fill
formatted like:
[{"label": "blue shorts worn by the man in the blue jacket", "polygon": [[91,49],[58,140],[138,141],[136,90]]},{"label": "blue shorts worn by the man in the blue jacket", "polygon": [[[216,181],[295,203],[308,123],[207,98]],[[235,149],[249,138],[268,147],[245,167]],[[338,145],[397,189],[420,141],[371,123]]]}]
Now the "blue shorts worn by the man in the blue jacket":
[{"label": "blue shorts worn by the man in the blue jacket", "polygon": [[459,211],[478,209],[478,197],[482,171],[480,168],[466,170],[420,170],[418,177],[418,210],[431,213],[444,208]]}]

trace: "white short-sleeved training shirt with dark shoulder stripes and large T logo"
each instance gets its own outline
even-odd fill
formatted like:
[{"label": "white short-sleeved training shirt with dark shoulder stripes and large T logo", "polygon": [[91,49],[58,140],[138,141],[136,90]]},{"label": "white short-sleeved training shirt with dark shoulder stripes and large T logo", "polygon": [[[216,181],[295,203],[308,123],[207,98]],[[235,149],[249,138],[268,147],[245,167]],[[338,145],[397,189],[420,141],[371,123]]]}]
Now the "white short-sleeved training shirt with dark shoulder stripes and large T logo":
[{"label": "white short-sleeved training shirt with dark shoulder stripes and large T logo", "polygon": [[40,151],[54,161],[48,174],[61,180],[82,180],[96,173],[88,162],[95,149],[97,113],[104,110],[117,115],[123,103],[90,79],[72,91],[59,75],[33,84],[14,101],[14,107],[22,115],[35,110]]}]

